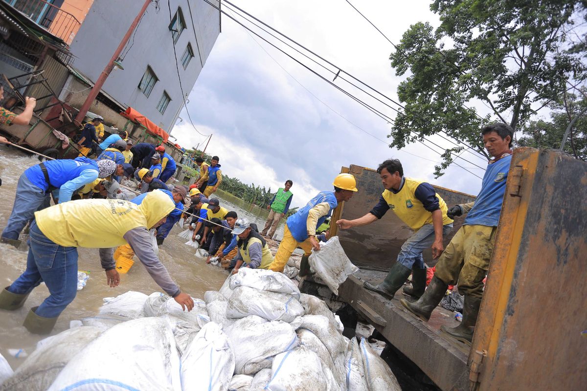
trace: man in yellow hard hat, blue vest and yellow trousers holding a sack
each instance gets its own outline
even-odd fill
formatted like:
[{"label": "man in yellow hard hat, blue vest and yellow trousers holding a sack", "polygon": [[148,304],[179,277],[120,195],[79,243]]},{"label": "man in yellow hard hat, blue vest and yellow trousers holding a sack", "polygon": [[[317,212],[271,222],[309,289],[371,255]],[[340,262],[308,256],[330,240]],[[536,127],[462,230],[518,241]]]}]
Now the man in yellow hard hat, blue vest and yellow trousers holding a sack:
[{"label": "man in yellow hard hat, blue vest and yellow trousers holding a sack", "polygon": [[350,200],[357,191],[355,177],[350,174],[337,175],[332,184],[334,191],[318,193],[306,206],[288,217],[285,222],[284,239],[279,244],[275,260],[269,265],[269,270],[284,271],[289,257],[299,246],[304,251],[299,275],[303,277],[309,273],[308,257],[312,249],[320,249],[315,236],[316,227],[322,225],[339,202]]}]

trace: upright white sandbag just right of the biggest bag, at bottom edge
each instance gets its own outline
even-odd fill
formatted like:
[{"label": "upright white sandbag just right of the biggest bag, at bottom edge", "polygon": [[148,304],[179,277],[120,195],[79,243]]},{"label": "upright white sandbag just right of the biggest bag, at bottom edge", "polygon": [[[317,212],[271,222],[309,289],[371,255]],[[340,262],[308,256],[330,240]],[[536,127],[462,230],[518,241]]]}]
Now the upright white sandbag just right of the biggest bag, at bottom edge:
[{"label": "upright white sandbag just right of the biggest bag, at bottom edge", "polygon": [[[234,373],[234,353],[220,325],[206,324],[181,357],[184,390],[225,391]],[[154,389],[154,388],[152,388]]]}]

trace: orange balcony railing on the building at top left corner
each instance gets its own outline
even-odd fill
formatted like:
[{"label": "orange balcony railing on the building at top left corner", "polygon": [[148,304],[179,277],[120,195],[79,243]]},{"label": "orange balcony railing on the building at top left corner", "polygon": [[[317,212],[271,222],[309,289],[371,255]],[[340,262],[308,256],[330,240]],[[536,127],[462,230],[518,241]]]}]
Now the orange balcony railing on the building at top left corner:
[{"label": "orange balcony railing on the building at top left corner", "polygon": [[68,45],[82,25],[75,16],[45,0],[4,0]]}]

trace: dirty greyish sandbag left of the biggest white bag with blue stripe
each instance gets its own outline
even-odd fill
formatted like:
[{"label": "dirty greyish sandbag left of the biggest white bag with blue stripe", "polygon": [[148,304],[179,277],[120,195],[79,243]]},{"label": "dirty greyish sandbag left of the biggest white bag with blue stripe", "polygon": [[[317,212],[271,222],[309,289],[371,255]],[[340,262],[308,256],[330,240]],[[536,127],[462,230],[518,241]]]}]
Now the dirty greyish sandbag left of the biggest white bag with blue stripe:
[{"label": "dirty greyish sandbag left of the biggest white bag with blue stripe", "polygon": [[102,331],[97,327],[82,326],[42,339],[37,343],[35,351],[16,369],[12,378],[4,383],[0,380],[0,389],[45,391],[73,356],[100,336]]}]

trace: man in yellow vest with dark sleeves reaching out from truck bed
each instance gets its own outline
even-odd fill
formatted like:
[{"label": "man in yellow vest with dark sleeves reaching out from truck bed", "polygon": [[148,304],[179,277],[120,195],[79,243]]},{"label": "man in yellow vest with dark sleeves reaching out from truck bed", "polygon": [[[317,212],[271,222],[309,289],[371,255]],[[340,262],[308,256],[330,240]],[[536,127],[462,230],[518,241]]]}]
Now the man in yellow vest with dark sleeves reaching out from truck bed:
[{"label": "man in yellow vest with dark sleeves reaching out from truck bed", "polygon": [[399,160],[384,161],[377,172],[385,188],[379,203],[365,216],[355,220],[341,219],[336,225],[342,229],[367,225],[392,209],[414,233],[404,242],[385,280],[379,285],[367,281],[363,285],[392,299],[412,273],[412,288],[404,288],[404,293],[420,297],[426,289],[426,264],[422,251],[431,246],[433,258],[440,257],[444,250],[443,237],[453,230],[453,220],[447,216],[446,203],[432,185],[404,177]]}]

